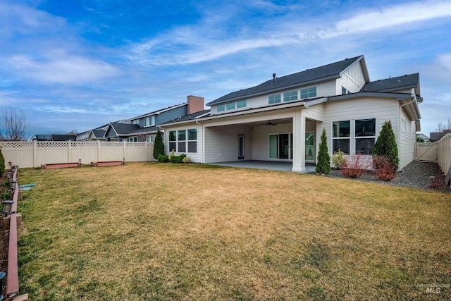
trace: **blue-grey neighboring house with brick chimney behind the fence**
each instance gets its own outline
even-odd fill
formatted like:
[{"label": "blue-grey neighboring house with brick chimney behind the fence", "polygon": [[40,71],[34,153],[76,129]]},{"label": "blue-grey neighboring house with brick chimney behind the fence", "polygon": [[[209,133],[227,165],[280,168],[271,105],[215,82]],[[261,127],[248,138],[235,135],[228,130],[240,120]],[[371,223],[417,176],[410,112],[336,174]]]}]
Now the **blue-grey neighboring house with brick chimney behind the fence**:
[{"label": "blue-grey neighboring house with brick chimney behind the fence", "polygon": [[108,141],[154,142],[159,125],[204,110],[202,97],[188,96],[187,102],[130,118],[128,123],[110,123],[104,137]]}]

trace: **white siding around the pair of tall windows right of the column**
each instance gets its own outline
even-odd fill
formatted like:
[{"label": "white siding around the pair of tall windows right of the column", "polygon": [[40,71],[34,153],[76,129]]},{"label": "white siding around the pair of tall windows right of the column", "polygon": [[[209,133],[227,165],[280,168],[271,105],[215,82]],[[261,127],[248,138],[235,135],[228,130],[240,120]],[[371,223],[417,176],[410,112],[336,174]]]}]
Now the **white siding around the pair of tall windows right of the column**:
[{"label": "white siding around the pair of tall windows right of the column", "polygon": [[[376,140],[385,121],[391,121],[397,144],[399,145],[399,104],[395,99],[376,97],[362,97],[359,99],[343,99],[324,104],[324,122],[316,123],[316,149],[321,141],[323,128],[328,137],[328,150],[332,155],[332,123],[333,121],[348,121],[364,118],[376,118]],[[351,140],[351,152],[354,150],[354,142]]]}]

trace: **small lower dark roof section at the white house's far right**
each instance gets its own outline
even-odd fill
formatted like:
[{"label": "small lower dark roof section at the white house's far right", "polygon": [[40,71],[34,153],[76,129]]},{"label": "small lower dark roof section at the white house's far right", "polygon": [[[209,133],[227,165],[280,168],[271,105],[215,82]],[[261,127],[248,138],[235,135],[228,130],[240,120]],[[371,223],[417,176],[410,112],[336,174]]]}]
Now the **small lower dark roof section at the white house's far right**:
[{"label": "small lower dark roof section at the white house's far right", "polygon": [[402,89],[416,88],[419,86],[419,73],[406,74],[396,78],[386,78],[385,80],[375,80],[366,82],[361,92],[390,92]]}]

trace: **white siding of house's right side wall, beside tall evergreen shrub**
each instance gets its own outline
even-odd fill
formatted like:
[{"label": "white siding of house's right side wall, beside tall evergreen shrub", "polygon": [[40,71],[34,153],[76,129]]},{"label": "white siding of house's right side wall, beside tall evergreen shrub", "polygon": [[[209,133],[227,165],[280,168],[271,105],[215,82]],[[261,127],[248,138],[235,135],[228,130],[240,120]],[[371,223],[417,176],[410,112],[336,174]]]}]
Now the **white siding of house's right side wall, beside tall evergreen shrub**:
[{"label": "white siding of house's right side wall, beside tall evergreen shrub", "polygon": [[[404,125],[403,125],[404,123]],[[404,111],[401,112],[400,124],[400,169],[414,160],[416,143],[415,121],[409,121]]]}]

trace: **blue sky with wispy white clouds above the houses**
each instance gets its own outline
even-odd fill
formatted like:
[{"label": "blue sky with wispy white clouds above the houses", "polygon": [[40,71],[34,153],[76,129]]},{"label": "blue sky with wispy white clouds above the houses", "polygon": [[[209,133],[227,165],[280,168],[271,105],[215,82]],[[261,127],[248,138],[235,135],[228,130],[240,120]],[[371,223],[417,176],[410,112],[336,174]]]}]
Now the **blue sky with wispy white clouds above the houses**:
[{"label": "blue sky with wispy white clouds above the houses", "polygon": [[451,118],[451,1],[0,1],[0,109],[82,132],[364,54],[420,73],[421,132]]}]

